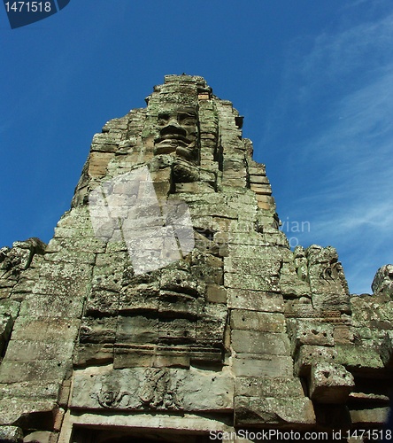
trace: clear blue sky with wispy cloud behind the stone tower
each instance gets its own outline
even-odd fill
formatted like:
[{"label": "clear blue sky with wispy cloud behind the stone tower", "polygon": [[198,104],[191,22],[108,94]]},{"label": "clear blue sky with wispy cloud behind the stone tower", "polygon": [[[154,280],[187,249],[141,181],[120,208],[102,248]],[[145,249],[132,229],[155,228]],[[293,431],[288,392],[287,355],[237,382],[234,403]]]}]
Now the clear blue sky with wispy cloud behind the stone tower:
[{"label": "clear blue sky with wispy cloud behind the stone tower", "polygon": [[244,115],[292,245],[335,246],[353,293],[393,262],[391,0],[0,5],[0,40],[0,246],[48,242],[92,136],[187,73]]}]

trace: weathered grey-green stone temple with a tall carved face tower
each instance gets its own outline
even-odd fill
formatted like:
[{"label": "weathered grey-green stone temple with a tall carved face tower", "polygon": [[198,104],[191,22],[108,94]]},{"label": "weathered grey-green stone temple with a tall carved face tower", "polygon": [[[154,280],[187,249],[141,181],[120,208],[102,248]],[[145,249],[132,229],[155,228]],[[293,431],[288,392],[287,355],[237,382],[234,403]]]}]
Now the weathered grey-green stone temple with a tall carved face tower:
[{"label": "weathered grey-green stone temple with a tall carved face tower", "polygon": [[351,296],[334,248],[292,251],[243,117],[202,77],[146,102],[93,137],[49,245],[0,250],[0,440],[380,431],[393,267]]}]

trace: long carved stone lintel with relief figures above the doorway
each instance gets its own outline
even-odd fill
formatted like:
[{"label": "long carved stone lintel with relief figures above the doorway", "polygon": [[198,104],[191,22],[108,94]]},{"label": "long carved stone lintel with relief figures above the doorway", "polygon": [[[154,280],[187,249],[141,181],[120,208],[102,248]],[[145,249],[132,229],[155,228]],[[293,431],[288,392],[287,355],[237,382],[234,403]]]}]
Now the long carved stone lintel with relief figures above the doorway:
[{"label": "long carved stone lintel with relief figures above the doorway", "polygon": [[89,368],[75,371],[73,385],[71,408],[189,412],[233,408],[234,380],[228,372]]}]

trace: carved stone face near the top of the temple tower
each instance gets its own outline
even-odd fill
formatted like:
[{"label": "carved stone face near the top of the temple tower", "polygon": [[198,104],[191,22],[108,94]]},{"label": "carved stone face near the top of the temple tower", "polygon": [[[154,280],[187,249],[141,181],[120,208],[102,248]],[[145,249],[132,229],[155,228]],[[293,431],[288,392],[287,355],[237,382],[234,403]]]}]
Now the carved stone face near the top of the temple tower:
[{"label": "carved stone face near the top of the temple tower", "polygon": [[179,157],[197,159],[197,113],[195,108],[179,108],[158,113],[159,136],[154,142],[154,153],[175,152]]}]

